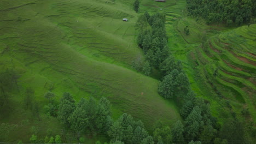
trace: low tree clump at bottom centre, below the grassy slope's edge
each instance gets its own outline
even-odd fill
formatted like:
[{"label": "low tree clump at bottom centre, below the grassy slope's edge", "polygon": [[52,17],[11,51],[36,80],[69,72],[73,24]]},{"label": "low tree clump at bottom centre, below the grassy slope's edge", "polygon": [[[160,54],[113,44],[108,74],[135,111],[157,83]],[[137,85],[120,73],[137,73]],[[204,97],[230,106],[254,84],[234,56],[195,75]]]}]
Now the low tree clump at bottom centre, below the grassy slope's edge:
[{"label": "low tree clump at bottom centre, below the grassy slope's edge", "polygon": [[113,123],[108,131],[112,141],[123,141],[124,143],[140,143],[148,136],[141,121],[134,121],[132,116],[124,113]]}]

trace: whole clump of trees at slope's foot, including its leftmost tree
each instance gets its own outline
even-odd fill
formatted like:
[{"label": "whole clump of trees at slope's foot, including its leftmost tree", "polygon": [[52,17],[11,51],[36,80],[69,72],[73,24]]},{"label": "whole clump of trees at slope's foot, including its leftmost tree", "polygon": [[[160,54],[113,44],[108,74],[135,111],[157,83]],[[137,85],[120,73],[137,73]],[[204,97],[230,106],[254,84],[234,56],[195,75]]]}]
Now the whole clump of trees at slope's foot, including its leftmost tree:
[{"label": "whole clump of trees at slope's foot, including its leftmost tree", "polygon": [[77,105],[74,102],[71,94],[63,94],[57,116],[62,124],[75,131],[78,139],[84,132],[93,135],[106,133],[112,124],[110,103],[106,98],[101,98],[98,103],[93,98],[82,98]]}]

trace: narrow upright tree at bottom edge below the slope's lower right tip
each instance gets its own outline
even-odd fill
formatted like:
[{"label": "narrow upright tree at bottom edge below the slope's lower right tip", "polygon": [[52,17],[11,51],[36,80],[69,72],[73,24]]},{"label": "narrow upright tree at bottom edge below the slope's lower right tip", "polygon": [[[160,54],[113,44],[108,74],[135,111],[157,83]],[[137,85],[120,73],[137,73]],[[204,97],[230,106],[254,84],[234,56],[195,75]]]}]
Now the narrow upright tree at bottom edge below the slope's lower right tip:
[{"label": "narrow upright tree at bottom edge below the slope's lower right tip", "polygon": [[177,121],[172,128],[172,142],[173,143],[184,143],[183,137],[183,124],[181,121]]}]

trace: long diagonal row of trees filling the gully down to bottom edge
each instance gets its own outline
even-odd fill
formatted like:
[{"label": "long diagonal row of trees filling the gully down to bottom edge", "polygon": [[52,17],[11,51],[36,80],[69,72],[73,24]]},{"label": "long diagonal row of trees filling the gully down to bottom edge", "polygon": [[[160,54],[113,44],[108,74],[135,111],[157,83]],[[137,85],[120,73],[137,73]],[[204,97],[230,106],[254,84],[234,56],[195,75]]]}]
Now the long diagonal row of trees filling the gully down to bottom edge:
[{"label": "long diagonal row of trees filling the gully down to bottom edge", "polygon": [[[210,103],[195,97],[188,77],[182,69],[181,61],[176,61],[167,46],[165,15],[157,13],[150,16],[146,12],[139,16],[137,27],[140,29],[138,46],[146,55],[143,72],[146,72],[145,65],[161,72],[162,81],[159,83],[158,92],[162,97],[177,102],[180,115],[184,119],[183,122],[178,121],[174,124],[172,129],[168,126],[157,126],[153,135],[154,142],[216,144],[245,142],[241,123],[229,120],[220,128],[216,118],[210,113]],[[226,129],[236,128],[240,131],[225,133]],[[231,137],[235,138],[231,139]]]}]

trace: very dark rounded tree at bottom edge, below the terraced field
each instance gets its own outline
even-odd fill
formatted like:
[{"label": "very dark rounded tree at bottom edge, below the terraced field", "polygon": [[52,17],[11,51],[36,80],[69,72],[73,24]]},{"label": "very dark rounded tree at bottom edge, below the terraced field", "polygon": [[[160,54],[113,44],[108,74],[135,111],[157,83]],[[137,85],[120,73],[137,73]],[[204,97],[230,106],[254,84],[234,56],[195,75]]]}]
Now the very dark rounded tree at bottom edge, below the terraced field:
[{"label": "very dark rounded tree at bottom edge, below the terraced field", "polygon": [[220,139],[228,140],[228,143],[245,143],[243,125],[238,121],[226,121],[219,131]]}]

